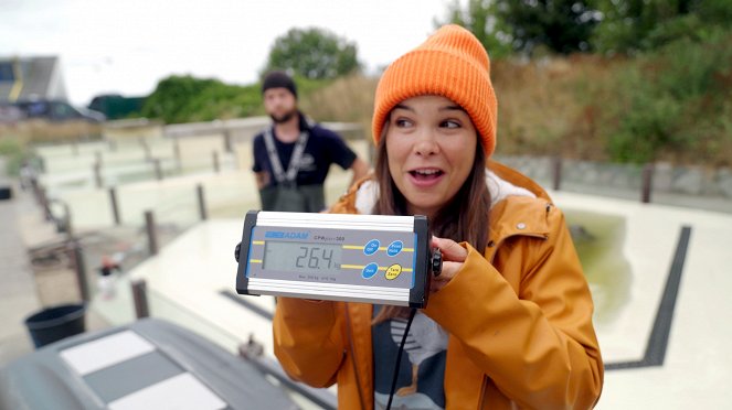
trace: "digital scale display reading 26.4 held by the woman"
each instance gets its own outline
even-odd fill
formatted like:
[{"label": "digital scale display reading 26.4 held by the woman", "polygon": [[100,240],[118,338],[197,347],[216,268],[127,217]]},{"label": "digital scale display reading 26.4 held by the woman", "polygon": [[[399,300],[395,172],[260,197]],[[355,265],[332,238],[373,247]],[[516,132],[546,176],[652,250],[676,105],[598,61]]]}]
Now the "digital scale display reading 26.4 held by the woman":
[{"label": "digital scale display reading 26.4 held by the woman", "polygon": [[251,211],[236,292],[424,308],[439,250],[425,216]]}]

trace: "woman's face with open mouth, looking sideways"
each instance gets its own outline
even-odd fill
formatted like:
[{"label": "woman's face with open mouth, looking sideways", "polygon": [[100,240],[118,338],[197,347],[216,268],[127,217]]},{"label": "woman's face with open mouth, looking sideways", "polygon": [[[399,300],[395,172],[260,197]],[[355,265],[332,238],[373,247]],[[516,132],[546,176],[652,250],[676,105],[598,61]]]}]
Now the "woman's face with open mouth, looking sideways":
[{"label": "woman's face with open mouth, looking sideways", "polygon": [[389,172],[406,211],[434,217],[473,169],[478,137],[470,117],[450,99],[420,96],[396,105],[386,127]]}]

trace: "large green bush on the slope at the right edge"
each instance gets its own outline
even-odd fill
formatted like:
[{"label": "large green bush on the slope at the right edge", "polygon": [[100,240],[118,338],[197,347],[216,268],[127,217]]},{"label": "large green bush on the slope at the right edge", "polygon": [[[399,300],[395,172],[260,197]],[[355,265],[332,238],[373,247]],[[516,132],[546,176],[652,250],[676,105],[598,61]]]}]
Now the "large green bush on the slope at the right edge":
[{"label": "large green bush on the slope at the right edge", "polygon": [[[700,43],[683,37],[638,56],[615,73],[604,127],[612,160],[660,158],[722,163],[730,147],[732,32]],[[729,153],[729,152],[728,152]]]}]

